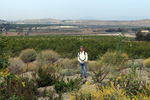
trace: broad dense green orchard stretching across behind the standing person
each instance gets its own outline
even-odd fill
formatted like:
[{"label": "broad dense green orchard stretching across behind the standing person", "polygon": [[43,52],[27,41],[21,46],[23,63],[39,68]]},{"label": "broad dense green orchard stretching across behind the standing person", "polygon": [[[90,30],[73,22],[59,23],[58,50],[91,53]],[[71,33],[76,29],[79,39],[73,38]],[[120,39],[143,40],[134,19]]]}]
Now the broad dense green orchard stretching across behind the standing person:
[{"label": "broad dense green orchard stretching across behind the standing person", "polygon": [[119,42],[120,37],[115,36],[72,36],[72,35],[52,35],[52,36],[12,36],[8,37],[4,50],[11,57],[18,56],[20,52],[27,48],[33,48],[37,52],[51,49],[65,58],[77,56],[80,46],[84,46],[88,52],[90,60],[96,60],[108,50],[118,49],[126,52],[132,58],[150,57],[150,42],[136,42],[134,38],[124,38]]}]

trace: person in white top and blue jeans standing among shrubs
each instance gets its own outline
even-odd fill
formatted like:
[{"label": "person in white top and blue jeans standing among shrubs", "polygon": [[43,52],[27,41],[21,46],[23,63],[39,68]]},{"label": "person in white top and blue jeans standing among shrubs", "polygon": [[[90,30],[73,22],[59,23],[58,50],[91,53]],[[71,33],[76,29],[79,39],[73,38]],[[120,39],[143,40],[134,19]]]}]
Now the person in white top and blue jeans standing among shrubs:
[{"label": "person in white top and blue jeans standing among shrubs", "polygon": [[81,77],[83,76],[83,69],[84,69],[84,77],[87,78],[86,76],[86,63],[88,60],[88,54],[83,50],[83,47],[80,47],[80,52],[78,52],[78,61],[80,65],[80,71],[81,71]]}]

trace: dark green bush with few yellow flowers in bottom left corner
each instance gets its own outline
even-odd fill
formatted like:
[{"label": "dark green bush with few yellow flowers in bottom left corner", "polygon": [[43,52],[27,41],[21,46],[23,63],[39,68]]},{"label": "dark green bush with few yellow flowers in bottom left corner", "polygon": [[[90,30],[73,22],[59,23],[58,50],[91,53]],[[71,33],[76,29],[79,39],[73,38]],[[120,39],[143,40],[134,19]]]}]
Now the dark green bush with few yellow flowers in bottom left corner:
[{"label": "dark green bush with few yellow flowers in bottom left corner", "polygon": [[6,82],[0,84],[0,100],[37,100],[36,94],[37,86],[27,78],[14,75],[9,80],[9,85]]}]

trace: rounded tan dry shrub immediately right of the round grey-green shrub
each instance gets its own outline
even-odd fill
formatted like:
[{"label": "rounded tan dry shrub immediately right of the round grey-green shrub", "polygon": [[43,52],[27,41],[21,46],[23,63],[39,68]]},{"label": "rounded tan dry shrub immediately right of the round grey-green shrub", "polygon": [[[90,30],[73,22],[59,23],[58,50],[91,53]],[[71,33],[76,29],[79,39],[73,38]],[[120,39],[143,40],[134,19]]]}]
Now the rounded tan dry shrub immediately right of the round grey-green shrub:
[{"label": "rounded tan dry shrub immediately right of the round grey-green shrub", "polygon": [[60,55],[52,50],[42,51],[38,56],[38,62],[43,64],[54,64],[58,60]]}]

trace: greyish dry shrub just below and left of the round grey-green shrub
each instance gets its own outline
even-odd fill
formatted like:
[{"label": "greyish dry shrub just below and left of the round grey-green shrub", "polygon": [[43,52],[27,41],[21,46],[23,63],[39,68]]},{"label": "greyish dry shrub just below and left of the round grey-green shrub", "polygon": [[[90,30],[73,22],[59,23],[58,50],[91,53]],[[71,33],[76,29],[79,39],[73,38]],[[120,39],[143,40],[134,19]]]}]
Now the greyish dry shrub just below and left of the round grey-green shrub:
[{"label": "greyish dry shrub just below and left of the round grey-green shrub", "polygon": [[21,74],[21,68],[24,65],[24,62],[20,58],[10,58],[9,63],[10,73]]}]

